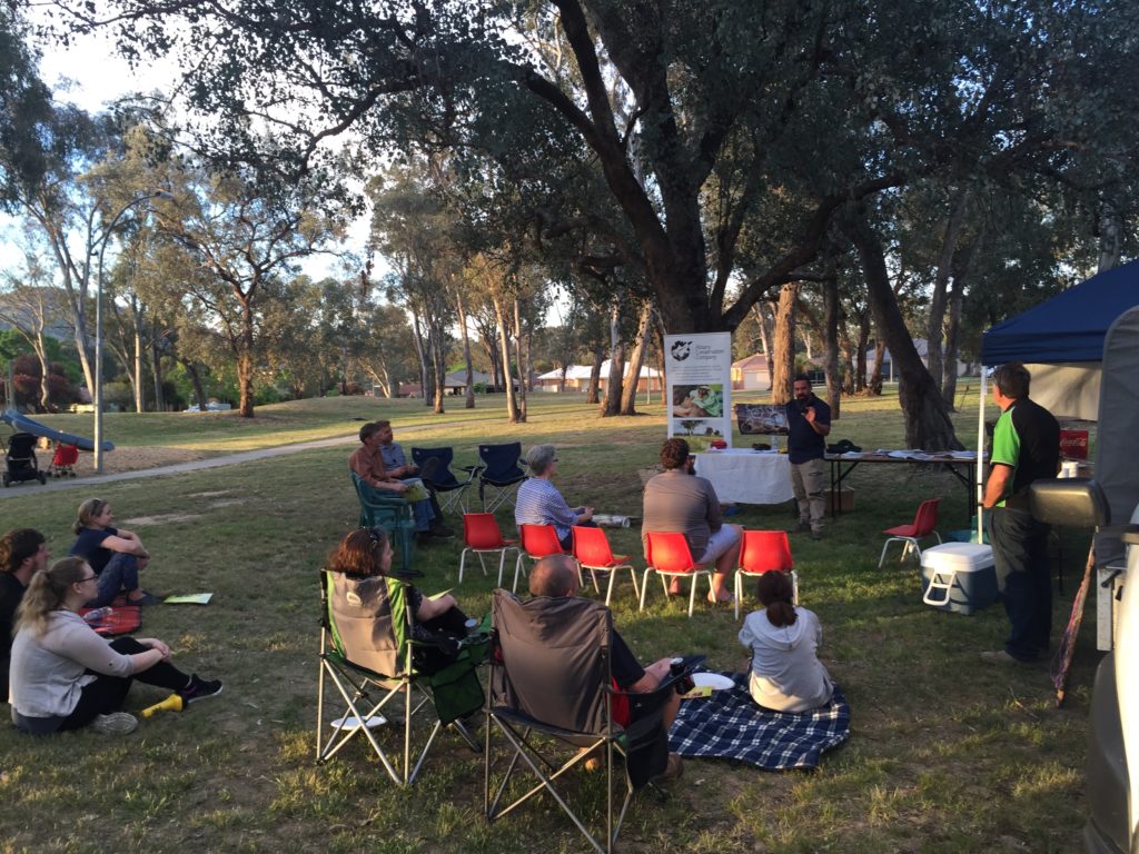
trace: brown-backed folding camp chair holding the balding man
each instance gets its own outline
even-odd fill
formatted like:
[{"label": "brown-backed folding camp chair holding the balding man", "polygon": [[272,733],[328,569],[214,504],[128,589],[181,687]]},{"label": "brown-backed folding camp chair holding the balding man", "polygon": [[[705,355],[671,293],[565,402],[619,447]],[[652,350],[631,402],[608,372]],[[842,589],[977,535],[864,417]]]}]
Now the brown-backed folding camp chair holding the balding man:
[{"label": "brown-backed folding camp chair holding the balding man", "polygon": [[[513,593],[495,590],[491,619],[497,649],[491,656],[486,703],[487,820],[494,821],[546,791],[595,851],[612,852],[633,793],[667,763],[662,715],[669,695],[675,690],[674,682],[690,673],[703,656],[685,659],[682,673],[652,693],[625,693],[611,687],[613,624],[609,609],[601,602],[577,597],[538,597],[523,602]],[[614,720],[614,708],[625,701],[631,723],[622,728]],[[497,763],[491,750],[492,732],[505,738],[509,754],[502,777],[493,787],[491,771]],[[566,791],[573,780],[567,772],[590,755],[599,755],[605,764],[604,840],[571,807]],[[625,759],[624,773],[614,773],[618,756]],[[527,772],[536,778],[532,787]],[[515,774],[525,775],[525,780],[515,781]],[[618,780],[624,781],[625,791],[620,812],[614,815]],[[526,790],[518,794],[522,787]],[[515,799],[506,804],[505,797]]]}]

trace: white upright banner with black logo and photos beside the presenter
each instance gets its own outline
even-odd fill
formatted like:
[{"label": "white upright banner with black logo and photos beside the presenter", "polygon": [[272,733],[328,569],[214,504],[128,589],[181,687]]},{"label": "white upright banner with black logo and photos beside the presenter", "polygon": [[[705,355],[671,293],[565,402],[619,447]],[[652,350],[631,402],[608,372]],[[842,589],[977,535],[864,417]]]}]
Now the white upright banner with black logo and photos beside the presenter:
[{"label": "white upright banner with black logo and photos beside the presenter", "polygon": [[693,452],[731,444],[731,335],[666,335],[669,435]]}]

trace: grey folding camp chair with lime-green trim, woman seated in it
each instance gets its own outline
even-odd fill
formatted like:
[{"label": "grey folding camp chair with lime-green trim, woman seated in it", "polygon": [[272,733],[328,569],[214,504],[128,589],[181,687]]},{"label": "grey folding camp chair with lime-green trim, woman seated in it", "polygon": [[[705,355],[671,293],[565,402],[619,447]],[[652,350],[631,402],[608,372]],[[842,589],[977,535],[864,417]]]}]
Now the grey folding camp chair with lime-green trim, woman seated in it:
[{"label": "grey folding camp chair with lime-green trim, woman seated in it", "polygon": [[[352,738],[362,734],[396,786],[415,781],[444,724],[450,724],[478,753],[480,746],[462,724],[461,715],[476,711],[483,701],[474,673],[481,655],[468,656],[466,679],[456,679],[454,673],[440,678],[441,674],[426,676],[416,672],[412,650],[424,642],[411,640],[412,616],[405,592],[405,584],[398,578],[353,580],[343,573],[320,573],[317,762],[330,759]],[[485,652],[486,639],[476,642],[482,643]],[[472,651],[477,652],[474,647]],[[326,679],[336,688],[343,705],[330,690],[326,691]],[[448,680],[461,684],[441,688]],[[460,689],[469,695],[466,703],[454,693]],[[441,695],[448,690],[452,692],[449,712],[441,715]],[[339,717],[330,721],[331,734],[326,737],[326,707],[333,704]],[[412,726],[420,722],[424,729],[429,726],[429,732],[413,750]],[[394,732],[383,730],[388,726],[394,730],[400,723],[402,738],[393,745]]]}]

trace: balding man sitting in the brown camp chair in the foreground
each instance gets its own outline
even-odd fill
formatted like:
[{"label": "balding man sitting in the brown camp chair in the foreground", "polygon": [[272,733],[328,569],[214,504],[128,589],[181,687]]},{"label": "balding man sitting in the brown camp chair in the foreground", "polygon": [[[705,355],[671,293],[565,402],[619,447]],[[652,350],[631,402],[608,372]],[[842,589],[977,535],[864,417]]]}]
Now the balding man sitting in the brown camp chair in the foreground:
[{"label": "balding man sitting in the brown camp chair in the foreground", "polygon": [[[577,594],[577,566],[568,555],[551,555],[542,558],[530,573],[530,594],[533,597],[549,597],[551,599],[575,597]],[[637,657],[629,649],[624,640],[622,640],[616,629],[613,630],[609,656],[613,681],[617,688],[624,691],[631,693],[650,693],[669,679],[671,658],[662,658],[648,667],[641,667],[637,662]],[[672,722],[677,718],[679,709],[680,695],[672,692],[667,700],[665,700],[662,715],[662,724],[665,733],[672,726]],[[613,715],[615,722],[622,726],[628,726],[631,722],[631,713],[628,706],[622,708],[617,704],[614,704]],[[587,767],[593,765],[592,761],[587,763]],[[683,766],[680,756],[670,753],[664,772],[656,779],[669,780],[680,777],[682,770]]]}]

